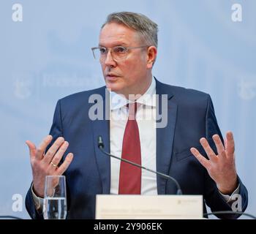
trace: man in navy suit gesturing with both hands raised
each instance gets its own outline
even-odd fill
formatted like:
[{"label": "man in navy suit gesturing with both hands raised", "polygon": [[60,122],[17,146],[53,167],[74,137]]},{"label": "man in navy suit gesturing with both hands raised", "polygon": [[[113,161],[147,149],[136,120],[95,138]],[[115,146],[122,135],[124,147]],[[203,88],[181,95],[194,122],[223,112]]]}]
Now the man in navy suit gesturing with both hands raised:
[{"label": "man in navy suit gesturing with both hands raised", "polygon": [[[102,26],[99,46],[92,50],[102,66],[106,86],[60,99],[50,135],[38,147],[26,142],[33,171],[26,196],[30,216],[42,218],[47,175],[66,176],[69,219],[94,219],[97,194],[130,194],[124,192],[129,190],[125,190],[129,180],[121,183],[121,163],[99,151],[99,135],[111,154],[123,157],[124,148],[130,152],[129,148],[135,151],[139,147],[141,165],[173,176],[186,195],[203,195],[204,212],[206,204],[211,211],[232,211],[233,197],[240,197],[238,209],[244,211],[248,195],[236,173],[233,135],[227,132],[223,140],[211,97],[160,83],[151,74],[157,58],[157,24],[140,14],[113,13]],[[133,141],[133,135],[128,147],[124,143],[130,115],[127,103],[136,103],[132,134],[139,136]],[[143,118],[152,113],[154,117],[161,113],[162,118]],[[136,194],[176,194],[173,181],[144,171],[139,171],[139,176]],[[133,177],[131,173],[130,183]],[[121,188],[124,185],[127,188]],[[131,194],[134,191],[131,189]]]}]

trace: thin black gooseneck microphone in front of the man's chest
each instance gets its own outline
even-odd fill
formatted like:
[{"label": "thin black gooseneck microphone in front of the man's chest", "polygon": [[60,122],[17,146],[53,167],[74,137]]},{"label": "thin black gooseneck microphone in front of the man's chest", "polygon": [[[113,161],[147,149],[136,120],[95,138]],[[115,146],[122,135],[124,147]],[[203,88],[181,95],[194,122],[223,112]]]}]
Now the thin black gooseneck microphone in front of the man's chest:
[{"label": "thin black gooseneck microphone in front of the man's chest", "polygon": [[112,154],[108,154],[108,152],[106,152],[106,151],[104,150],[104,143],[103,143],[103,140],[102,140],[102,136],[98,136],[98,148],[102,151],[103,154],[106,154],[106,155],[111,156],[111,157],[113,157],[113,158],[115,158],[115,159],[121,160],[121,161],[123,161],[123,162],[127,162],[127,163],[129,163],[130,165],[134,165],[135,167],[139,167],[139,168],[142,168],[142,169],[144,169],[144,170],[148,170],[148,171],[150,171],[151,173],[155,173],[155,174],[157,174],[158,176],[162,176],[163,178],[165,178],[165,179],[167,179],[167,180],[173,181],[173,182],[176,184],[176,186],[177,186],[176,195],[182,195],[181,186],[178,184],[178,181],[176,181],[175,178],[173,178],[173,177],[171,177],[171,176],[167,176],[167,175],[165,175],[165,174],[163,174],[163,173],[159,173],[158,171],[148,169],[148,168],[146,168],[146,167],[143,167],[143,166],[141,166],[141,165],[138,165],[138,164],[135,163],[135,162],[131,162],[131,161],[127,160],[127,159],[121,159],[121,158],[119,158],[118,156],[115,156],[115,155],[112,155]]}]

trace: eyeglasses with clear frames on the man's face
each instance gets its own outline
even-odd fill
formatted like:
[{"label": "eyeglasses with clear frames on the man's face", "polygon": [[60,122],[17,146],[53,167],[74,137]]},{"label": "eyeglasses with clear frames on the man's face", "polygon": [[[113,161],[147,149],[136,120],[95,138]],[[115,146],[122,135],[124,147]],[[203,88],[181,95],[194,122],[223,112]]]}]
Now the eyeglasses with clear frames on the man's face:
[{"label": "eyeglasses with clear frames on the man's face", "polygon": [[103,62],[107,59],[108,51],[110,51],[112,59],[114,61],[121,61],[121,60],[127,59],[129,50],[138,49],[138,48],[146,48],[149,46],[150,45],[143,45],[143,46],[136,46],[136,47],[124,47],[124,46],[118,45],[113,48],[105,48],[105,47],[99,46],[99,47],[93,47],[93,48],[91,48],[91,50],[94,55],[94,59],[97,59],[100,62]]}]

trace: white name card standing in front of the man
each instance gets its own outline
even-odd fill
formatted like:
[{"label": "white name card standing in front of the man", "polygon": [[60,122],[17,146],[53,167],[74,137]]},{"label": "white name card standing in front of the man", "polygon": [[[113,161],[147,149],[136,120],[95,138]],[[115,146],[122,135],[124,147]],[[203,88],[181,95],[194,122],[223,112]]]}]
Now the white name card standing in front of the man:
[{"label": "white name card standing in front of the man", "polygon": [[201,195],[97,195],[96,219],[203,219]]}]

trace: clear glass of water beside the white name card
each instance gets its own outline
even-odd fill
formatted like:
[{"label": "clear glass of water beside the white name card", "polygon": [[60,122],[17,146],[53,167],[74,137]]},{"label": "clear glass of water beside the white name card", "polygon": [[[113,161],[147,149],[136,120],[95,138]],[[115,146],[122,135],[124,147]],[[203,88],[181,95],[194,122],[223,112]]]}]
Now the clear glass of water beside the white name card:
[{"label": "clear glass of water beside the white name card", "polygon": [[65,176],[45,177],[44,219],[66,219],[67,195]]}]

